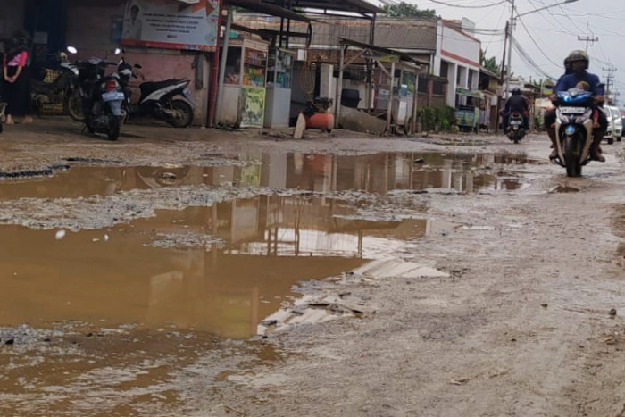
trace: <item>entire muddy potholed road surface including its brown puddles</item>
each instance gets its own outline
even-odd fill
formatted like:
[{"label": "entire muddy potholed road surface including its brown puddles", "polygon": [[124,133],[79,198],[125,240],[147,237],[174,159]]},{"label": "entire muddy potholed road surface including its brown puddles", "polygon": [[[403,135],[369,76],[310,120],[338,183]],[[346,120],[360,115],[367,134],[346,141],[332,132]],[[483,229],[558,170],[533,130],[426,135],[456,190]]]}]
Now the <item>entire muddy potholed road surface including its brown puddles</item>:
[{"label": "entire muddy potholed road surface including its brown puddles", "polygon": [[[624,416],[621,143],[0,137],[0,415]],[[11,129],[9,129],[11,128]]]}]

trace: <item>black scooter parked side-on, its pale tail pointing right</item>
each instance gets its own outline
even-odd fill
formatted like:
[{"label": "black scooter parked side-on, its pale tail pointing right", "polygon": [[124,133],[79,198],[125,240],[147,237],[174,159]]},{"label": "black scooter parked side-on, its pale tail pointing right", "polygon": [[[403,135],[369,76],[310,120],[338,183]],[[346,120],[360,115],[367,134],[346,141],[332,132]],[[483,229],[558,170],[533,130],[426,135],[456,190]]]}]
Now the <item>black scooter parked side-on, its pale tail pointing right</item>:
[{"label": "black scooter parked side-on, its pale tail pointing right", "polygon": [[[193,123],[196,104],[188,89],[188,79],[142,82],[138,86],[141,92],[138,102],[133,104],[129,83],[131,78],[138,78],[133,68],[141,69],[141,65],[130,66],[123,57],[117,67],[121,88],[126,95],[123,107],[128,116],[149,115],[171,124],[174,128],[187,128]],[[183,96],[184,99],[174,98],[176,96]]]}]

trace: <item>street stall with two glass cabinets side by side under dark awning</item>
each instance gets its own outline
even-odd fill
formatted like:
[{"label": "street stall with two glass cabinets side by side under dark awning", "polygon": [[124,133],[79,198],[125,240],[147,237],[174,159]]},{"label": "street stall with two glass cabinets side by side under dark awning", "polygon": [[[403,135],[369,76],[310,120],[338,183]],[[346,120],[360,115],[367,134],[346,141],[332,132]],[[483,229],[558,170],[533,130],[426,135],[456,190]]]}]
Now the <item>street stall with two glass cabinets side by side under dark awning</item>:
[{"label": "street stall with two glass cabinets side by side under dark awning", "polygon": [[[228,36],[222,43],[217,123],[242,128],[288,126],[294,54],[287,50],[287,40],[310,38],[309,32],[292,31],[289,22],[310,20],[279,5],[254,0],[226,0],[224,4],[228,10],[224,34]],[[279,24],[279,30],[258,27],[254,21],[234,22],[235,8],[260,13],[259,21]]]}]

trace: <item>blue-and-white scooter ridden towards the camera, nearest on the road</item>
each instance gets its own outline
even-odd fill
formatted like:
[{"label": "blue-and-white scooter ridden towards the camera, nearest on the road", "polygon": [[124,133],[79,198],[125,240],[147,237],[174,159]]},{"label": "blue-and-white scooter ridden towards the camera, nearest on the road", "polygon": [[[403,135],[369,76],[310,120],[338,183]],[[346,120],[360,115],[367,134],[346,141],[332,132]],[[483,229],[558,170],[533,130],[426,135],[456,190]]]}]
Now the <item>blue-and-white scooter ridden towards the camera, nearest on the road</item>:
[{"label": "blue-and-white scooter ridden towards the camera, nearest on the road", "polygon": [[579,177],[589,163],[593,142],[594,97],[589,91],[571,88],[558,93],[555,105],[555,163],[566,168],[569,177]]}]

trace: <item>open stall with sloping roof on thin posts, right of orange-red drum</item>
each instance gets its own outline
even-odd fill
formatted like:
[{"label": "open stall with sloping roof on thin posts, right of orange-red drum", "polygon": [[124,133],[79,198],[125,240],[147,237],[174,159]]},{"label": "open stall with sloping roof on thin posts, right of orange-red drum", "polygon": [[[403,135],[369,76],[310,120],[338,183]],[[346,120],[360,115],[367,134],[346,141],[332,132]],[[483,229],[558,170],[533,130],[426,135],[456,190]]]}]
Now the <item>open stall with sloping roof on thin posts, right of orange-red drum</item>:
[{"label": "open stall with sloping roof on thin posts, right of orange-red drum", "polygon": [[[417,95],[416,80],[421,65],[427,64],[401,52],[362,44],[350,39],[341,39],[341,56],[337,79],[337,118],[336,123],[344,126],[343,118],[362,119],[363,129],[368,131],[399,132],[406,134],[416,130]],[[349,48],[354,52],[349,53]],[[368,65],[367,60],[372,64]],[[363,114],[354,113],[350,104],[344,99],[351,89],[344,89],[344,75],[350,67],[371,68],[373,82],[367,86],[365,109]],[[353,81],[352,81],[353,83]],[[373,97],[370,104],[369,97]],[[341,116],[343,114],[343,116]],[[386,124],[379,125],[366,117],[373,116],[383,119]],[[361,124],[362,124],[361,123]],[[350,124],[350,123],[347,123]],[[345,127],[345,126],[344,126]]]}]

